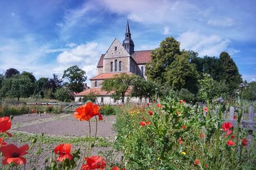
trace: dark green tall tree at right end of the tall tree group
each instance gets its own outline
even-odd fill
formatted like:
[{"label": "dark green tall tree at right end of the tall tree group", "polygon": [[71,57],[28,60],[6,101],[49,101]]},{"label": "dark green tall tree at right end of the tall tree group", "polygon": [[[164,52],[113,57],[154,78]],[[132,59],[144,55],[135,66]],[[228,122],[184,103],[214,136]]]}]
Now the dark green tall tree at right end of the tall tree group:
[{"label": "dark green tall tree at right end of the tall tree group", "polygon": [[238,89],[239,84],[243,82],[241,74],[239,74],[238,67],[230,55],[226,52],[220,54],[220,64],[223,70],[222,80],[224,80],[229,88],[229,93],[233,93]]}]

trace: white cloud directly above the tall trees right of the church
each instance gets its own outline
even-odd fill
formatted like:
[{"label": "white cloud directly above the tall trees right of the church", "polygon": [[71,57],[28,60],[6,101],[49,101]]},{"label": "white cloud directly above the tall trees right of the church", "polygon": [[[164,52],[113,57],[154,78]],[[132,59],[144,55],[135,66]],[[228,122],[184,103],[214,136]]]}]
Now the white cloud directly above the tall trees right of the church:
[{"label": "white cloud directly above the tall trees right of the church", "polygon": [[181,49],[197,51],[199,56],[218,56],[222,51],[235,54],[239,50],[229,48],[230,40],[221,38],[218,35],[206,35],[197,31],[183,32],[178,38]]}]

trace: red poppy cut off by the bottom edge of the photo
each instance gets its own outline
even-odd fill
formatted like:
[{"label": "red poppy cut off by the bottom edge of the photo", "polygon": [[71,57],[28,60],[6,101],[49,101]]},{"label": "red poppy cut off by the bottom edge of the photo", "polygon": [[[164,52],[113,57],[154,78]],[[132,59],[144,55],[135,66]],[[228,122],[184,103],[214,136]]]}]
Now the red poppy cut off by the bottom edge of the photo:
[{"label": "red poppy cut off by the bottom edge of the photo", "polygon": [[86,164],[82,165],[82,170],[89,170],[89,169],[101,169],[104,170],[106,167],[106,162],[104,158],[100,156],[92,156],[90,158],[86,157]]}]

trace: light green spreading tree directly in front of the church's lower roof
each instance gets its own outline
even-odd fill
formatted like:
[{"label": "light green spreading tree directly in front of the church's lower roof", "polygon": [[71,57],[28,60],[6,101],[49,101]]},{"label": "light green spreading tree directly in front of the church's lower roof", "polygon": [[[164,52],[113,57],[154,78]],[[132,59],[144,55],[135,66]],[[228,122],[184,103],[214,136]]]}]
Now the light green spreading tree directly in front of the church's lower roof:
[{"label": "light green spreading tree directly in front of the church's lower roof", "polygon": [[101,89],[108,93],[113,92],[113,97],[118,100],[121,98],[122,103],[124,103],[125,92],[132,85],[133,79],[137,77],[137,75],[128,75],[126,73],[117,74],[111,79],[105,79]]}]

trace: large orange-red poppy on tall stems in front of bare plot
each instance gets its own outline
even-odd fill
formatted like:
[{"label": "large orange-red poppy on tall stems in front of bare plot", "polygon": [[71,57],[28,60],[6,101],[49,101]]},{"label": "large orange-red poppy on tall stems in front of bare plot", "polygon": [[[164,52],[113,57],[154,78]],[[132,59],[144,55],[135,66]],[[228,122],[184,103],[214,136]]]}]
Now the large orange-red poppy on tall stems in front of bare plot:
[{"label": "large orange-red poppy on tall stems in front of bare plot", "polygon": [[73,115],[80,121],[89,121],[92,117],[97,115],[99,116],[99,120],[103,120],[99,110],[100,107],[98,105],[94,105],[94,103],[88,102],[85,105],[78,107]]}]

